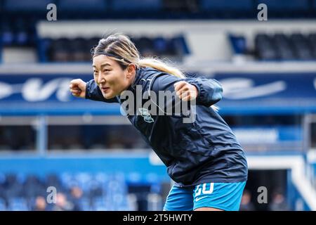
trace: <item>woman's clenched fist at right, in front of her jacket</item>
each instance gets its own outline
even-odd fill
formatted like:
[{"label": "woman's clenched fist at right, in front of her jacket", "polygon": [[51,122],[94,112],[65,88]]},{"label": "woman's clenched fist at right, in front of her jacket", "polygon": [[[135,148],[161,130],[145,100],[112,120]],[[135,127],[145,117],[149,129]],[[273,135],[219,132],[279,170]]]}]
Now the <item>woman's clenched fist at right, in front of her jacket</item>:
[{"label": "woman's clenched fist at right, in front of her jacket", "polygon": [[185,81],[176,82],[176,84],[173,84],[173,86],[176,91],[176,95],[182,101],[191,101],[197,98],[197,94],[199,94],[196,86]]}]

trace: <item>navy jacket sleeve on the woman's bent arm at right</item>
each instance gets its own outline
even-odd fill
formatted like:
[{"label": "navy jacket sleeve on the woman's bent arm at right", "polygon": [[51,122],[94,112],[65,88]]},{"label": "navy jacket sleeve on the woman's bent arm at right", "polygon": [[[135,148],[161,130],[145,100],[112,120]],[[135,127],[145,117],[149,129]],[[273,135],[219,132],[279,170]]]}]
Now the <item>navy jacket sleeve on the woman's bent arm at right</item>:
[{"label": "navy jacket sleeve on the woman's bent arm at right", "polygon": [[207,107],[217,103],[223,97],[223,86],[216,79],[206,77],[186,78],[186,82],[195,85],[199,94],[197,104]]}]

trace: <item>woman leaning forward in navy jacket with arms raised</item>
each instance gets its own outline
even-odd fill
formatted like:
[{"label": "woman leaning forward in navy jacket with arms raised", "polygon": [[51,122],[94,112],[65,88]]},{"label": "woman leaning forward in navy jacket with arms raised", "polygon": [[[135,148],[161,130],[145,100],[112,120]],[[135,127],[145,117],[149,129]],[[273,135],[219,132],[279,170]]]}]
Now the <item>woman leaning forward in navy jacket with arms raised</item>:
[{"label": "woman leaning forward in navy jacket with arms raised", "polygon": [[[164,210],[239,210],[248,168],[244,150],[213,105],[222,98],[219,82],[185,77],[160,60],[140,58],[136,46],[124,34],[100,39],[92,66],[93,79],[71,81],[73,96],[122,106],[129,101],[123,97],[126,91],[134,96],[137,90],[156,94],[156,99],[152,94],[148,98],[155,101],[151,107],[157,106],[156,114],[145,104],[136,104],[126,115],[175,181]],[[195,120],[184,122],[188,115],[166,113],[168,109],[158,104],[161,91],[176,93],[181,103],[195,101],[195,112],[189,108]],[[141,103],[148,99],[141,99]],[[173,105],[176,98],[162,102],[168,101],[166,105]]]}]

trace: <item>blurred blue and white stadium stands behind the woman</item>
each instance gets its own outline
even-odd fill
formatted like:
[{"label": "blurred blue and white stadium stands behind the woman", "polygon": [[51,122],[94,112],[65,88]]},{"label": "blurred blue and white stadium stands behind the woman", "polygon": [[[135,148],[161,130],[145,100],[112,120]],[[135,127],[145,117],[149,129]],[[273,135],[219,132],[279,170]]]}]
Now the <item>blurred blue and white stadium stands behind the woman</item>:
[{"label": "blurred blue and white stadium stands behind the woman", "polygon": [[69,91],[113,32],[223,84],[219,113],[249,162],[242,210],[316,210],[315,0],[0,0],[0,13],[0,210],[162,210],[171,181],[119,105]]}]

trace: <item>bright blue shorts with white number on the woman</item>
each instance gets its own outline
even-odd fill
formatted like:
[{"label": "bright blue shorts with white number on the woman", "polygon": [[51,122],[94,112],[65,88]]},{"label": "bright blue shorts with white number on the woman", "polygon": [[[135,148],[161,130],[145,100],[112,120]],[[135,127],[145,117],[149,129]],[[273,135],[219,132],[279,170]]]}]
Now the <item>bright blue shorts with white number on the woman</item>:
[{"label": "bright blue shorts with white number on the woman", "polygon": [[173,186],[166,198],[165,211],[192,211],[213,207],[238,211],[246,181],[239,183],[207,183],[192,188]]}]

